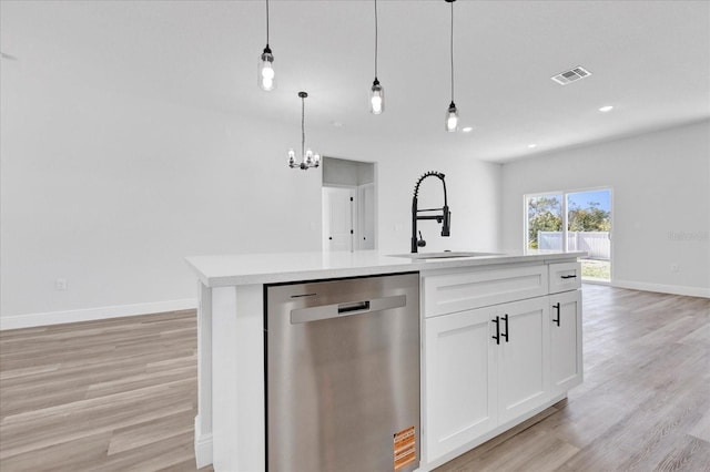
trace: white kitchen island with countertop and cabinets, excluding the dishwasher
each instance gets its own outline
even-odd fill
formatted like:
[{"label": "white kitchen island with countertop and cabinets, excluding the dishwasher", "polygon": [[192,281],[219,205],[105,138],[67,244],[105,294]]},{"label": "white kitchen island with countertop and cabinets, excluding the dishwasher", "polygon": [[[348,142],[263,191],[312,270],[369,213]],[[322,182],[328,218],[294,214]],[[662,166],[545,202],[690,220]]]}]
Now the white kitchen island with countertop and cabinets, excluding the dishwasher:
[{"label": "white kitchen island with countertop and cabinets, excluding the dishwasher", "polygon": [[379,252],[189,257],[199,278],[197,465],[265,470],[264,285],[418,273],[426,471],[581,382],[585,253],[393,257]]}]

